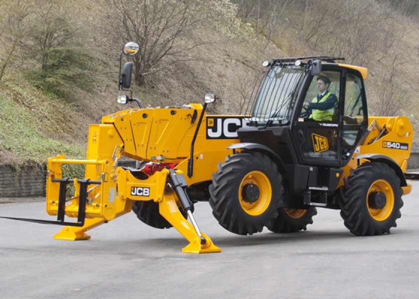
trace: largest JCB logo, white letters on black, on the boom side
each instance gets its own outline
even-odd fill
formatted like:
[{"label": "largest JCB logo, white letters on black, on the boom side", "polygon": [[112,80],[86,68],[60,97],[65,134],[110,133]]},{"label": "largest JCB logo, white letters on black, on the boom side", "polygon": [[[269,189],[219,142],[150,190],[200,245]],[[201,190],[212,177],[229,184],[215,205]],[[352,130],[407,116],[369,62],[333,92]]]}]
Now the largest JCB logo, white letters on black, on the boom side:
[{"label": "largest JCB logo, white letters on black, on the boom side", "polygon": [[237,130],[242,127],[248,127],[248,121],[245,121],[242,116],[208,117],[207,139],[237,138]]}]

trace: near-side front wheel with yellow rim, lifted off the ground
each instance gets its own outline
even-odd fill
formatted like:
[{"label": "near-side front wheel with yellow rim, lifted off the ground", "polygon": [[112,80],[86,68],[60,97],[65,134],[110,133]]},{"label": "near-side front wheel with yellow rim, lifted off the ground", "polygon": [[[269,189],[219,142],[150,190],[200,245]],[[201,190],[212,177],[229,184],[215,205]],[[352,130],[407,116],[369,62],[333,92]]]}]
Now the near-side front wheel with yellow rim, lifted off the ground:
[{"label": "near-side front wheel with yellow rim, lifted off the ground", "polygon": [[212,174],[212,214],[232,233],[261,232],[278,215],[279,200],[275,199],[284,191],[281,181],[276,164],[266,155],[242,152],[227,156]]}]

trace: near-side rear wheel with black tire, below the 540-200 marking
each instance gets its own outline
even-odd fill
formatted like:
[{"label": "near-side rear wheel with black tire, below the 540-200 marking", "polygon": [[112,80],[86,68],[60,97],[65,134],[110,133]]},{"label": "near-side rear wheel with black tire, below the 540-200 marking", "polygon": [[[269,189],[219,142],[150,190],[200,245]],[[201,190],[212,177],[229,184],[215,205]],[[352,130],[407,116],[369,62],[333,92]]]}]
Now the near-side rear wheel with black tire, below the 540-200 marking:
[{"label": "near-side rear wheel with black tire, below the 540-200 marking", "polygon": [[[358,236],[390,234],[403,206],[400,179],[394,169],[380,162],[366,162],[344,179],[341,216]],[[384,198],[384,199],[383,199]]]}]

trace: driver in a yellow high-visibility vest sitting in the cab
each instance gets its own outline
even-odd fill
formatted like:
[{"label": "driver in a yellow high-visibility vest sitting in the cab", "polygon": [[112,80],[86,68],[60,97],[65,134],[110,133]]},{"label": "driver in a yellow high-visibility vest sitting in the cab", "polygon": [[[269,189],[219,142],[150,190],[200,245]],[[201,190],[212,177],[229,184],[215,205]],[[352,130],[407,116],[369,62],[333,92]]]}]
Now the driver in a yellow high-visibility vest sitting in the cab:
[{"label": "driver in a yellow high-visibility vest sitting in the cab", "polygon": [[309,119],[318,122],[332,120],[338,98],[328,91],[329,86],[330,79],[328,77],[322,75],[317,77],[317,90],[319,91],[319,94],[311,103],[303,104],[303,107],[306,110],[312,110],[308,117]]}]

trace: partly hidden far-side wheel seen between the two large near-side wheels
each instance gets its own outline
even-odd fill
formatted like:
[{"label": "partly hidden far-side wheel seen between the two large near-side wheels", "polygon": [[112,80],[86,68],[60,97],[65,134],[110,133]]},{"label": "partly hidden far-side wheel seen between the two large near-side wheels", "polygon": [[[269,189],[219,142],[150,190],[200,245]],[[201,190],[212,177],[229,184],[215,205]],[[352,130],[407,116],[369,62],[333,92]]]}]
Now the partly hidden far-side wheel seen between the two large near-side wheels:
[{"label": "partly hidden far-side wheel seen between the two large near-side wheels", "polygon": [[274,233],[295,233],[307,230],[308,224],[313,224],[313,216],[317,215],[315,207],[308,209],[278,209],[278,217],[271,221],[268,229]]}]

